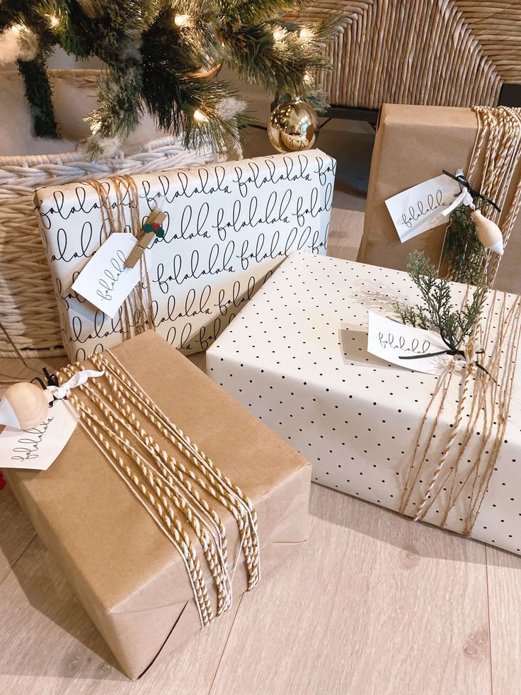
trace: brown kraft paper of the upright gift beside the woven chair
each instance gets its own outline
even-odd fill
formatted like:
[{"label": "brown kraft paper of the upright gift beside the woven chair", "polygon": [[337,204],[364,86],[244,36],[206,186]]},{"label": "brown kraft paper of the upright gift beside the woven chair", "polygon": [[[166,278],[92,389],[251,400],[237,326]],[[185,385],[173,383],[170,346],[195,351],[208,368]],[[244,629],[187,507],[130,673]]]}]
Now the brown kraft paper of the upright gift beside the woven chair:
[{"label": "brown kraft paper of the upright gift beside the woven chair", "polygon": [[[415,249],[438,264],[447,224],[435,227],[403,244],[385,201],[418,183],[440,176],[468,171],[478,123],[470,108],[452,106],[406,106],[384,104],[380,113],[371,161],[364,233],[357,261],[405,270],[407,256]],[[476,168],[479,187],[482,164]],[[521,162],[515,181],[521,176]],[[477,181],[477,183],[476,183]],[[515,195],[511,187],[503,205],[508,210]],[[503,216],[501,219],[503,219]],[[521,293],[521,216],[510,235],[494,286],[505,292]]]}]

